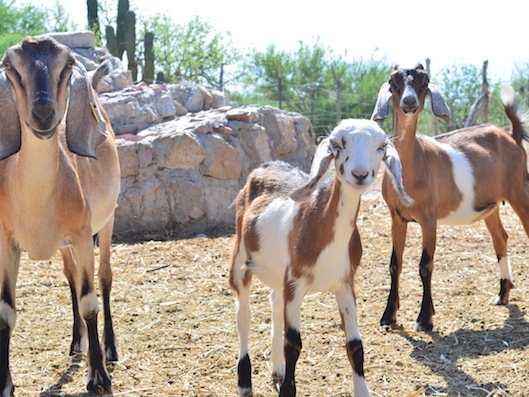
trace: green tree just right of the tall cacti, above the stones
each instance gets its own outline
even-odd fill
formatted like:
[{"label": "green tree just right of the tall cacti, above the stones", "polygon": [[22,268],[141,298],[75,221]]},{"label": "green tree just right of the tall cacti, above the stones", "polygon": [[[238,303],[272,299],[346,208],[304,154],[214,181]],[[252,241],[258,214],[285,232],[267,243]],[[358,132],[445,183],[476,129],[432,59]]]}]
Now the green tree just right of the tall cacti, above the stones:
[{"label": "green tree just right of the tall cacti, above the stones", "polygon": [[140,36],[154,33],[155,68],[167,81],[189,81],[217,89],[233,81],[236,72],[230,74],[229,66],[240,59],[240,54],[228,32],[217,32],[199,16],[176,24],[169,15],[157,14],[143,25]]}]

